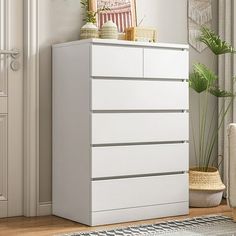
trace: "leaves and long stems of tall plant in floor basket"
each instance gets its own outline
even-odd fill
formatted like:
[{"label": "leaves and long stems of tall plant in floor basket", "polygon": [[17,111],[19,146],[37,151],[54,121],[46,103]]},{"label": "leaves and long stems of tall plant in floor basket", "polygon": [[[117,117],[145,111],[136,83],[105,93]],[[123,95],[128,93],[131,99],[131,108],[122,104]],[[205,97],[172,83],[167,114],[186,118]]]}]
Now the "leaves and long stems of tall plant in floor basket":
[{"label": "leaves and long stems of tall plant in floor basket", "polygon": [[[199,40],[205,43],[215,55],[236,52],[230,44],[221,40],[215,32],[207,27],[201,28]],[[232,81],[234,82],[235,78],[232,78]],[[193,131],[196,164],[200,171],[207,171],[210,166],[214,166],[217,163],[218,157],[213,155],[213,150],[217,143],[219,130],[235,97],[235,94],[231,91],[221,89],[218,84],[219,77],[206,65],[201,63],[195,63],[193,65],[193,72],[189,78],[189,86],[198,93],[199,121],[197,124],[198,130],[195,130],[193,127],[194,121],[191,118],[191,127]],[[218,110],[216,106],[211,114],[209,114],[209,95],[223,99],[222,107]],[[207,121],[209,115],[210,123]],[[213,122],[214,117],[218,117],[216,127]],[[198,132],[198,139],[196,139],[195,131]]]}]

